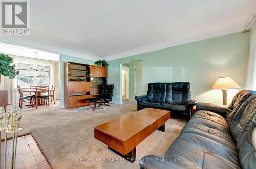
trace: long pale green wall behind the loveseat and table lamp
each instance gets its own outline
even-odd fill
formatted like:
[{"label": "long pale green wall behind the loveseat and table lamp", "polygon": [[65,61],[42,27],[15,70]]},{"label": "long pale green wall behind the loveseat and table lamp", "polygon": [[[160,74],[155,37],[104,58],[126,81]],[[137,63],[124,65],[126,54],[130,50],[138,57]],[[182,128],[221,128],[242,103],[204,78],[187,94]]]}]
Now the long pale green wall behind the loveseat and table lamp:
[{"label": "long pale green wall behind the loveseat and table lamp", "polygon": [[[115,85],[113,102],[121,103],[122,64],[141,60],[144,94],[150,82],[190,82],[192,96],[198,102],[221,104],[221,91],[210,88],[223,75],[233,78],[242,89],[245,87],[249,39],[249,33],[239,32],[109,61],[108,83]],[[228,102],[236,92],[228,92]],[[129,97],[134,99],[132,68],[129,72]]]}]

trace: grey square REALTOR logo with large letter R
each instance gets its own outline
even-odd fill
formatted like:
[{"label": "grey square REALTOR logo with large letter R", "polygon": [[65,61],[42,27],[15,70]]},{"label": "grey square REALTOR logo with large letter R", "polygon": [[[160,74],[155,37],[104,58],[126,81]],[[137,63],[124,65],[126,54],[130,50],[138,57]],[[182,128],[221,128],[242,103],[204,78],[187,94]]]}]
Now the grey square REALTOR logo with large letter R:
[{"label": "grey square REALTOR logo with large letter R", "polygon": [[1,0],[1,35],[29,35],[28,0]]}]

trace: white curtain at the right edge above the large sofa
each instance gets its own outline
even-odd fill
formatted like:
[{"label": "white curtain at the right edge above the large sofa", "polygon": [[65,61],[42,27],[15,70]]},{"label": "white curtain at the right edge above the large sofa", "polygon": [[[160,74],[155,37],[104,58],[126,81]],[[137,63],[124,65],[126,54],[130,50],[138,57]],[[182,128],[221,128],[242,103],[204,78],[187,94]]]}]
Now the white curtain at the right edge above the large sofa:
[{"label": "white curtain at the right edge above the large sofa", "polygon": [[252,23],[250,32],[250,55],[248,60],[246,84],[248,90],[256,90],[256,21]]}]

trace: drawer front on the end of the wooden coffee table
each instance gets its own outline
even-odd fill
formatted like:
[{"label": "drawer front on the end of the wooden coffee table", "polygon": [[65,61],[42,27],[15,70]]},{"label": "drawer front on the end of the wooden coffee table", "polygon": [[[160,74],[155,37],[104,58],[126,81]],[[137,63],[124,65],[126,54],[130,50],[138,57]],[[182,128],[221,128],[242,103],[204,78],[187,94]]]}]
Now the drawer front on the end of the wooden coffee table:
[{"label": "drawer front on the end of the wooden coffee table", "polygon": [[[123,154],[123,142],[118,140],[108,134],[105,134],[97,129],[94,129],[94,138],[100,140],[101,142],[105,143],[109,147],[115,149],[119,153]],[[125,154],[124,154],[125,155]]]}]

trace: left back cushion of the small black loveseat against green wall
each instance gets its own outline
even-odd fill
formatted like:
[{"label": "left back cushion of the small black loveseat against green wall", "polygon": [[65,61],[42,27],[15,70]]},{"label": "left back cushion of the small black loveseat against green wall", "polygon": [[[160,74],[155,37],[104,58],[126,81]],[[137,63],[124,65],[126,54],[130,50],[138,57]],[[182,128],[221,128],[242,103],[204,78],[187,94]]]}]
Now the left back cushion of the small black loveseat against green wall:
[{"label": "left back cushion of the small black loveseat against green wall", "polygon": [[147,101],[160,103],[165,102],[166,83],[149,83],[147,90]]}]

